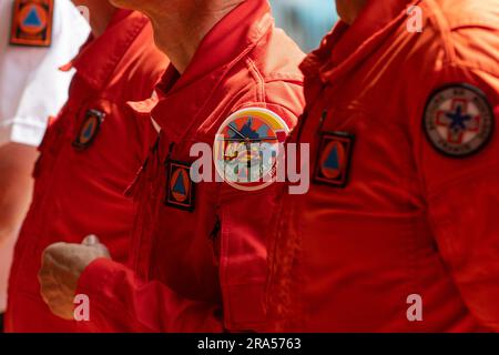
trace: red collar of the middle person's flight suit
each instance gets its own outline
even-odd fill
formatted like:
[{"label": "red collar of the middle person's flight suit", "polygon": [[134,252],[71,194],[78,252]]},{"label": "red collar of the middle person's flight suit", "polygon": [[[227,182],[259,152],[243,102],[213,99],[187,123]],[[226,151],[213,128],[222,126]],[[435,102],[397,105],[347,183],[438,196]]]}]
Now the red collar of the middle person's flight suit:
[{"label": "red collar of the middle person's flight suit", "polygon": [[156,88],[160,102],[151,112],[169,140],[182,141],[226,73],[273,24],[267,0],[245,1],[205,36],[182,75],[170,65]]}]

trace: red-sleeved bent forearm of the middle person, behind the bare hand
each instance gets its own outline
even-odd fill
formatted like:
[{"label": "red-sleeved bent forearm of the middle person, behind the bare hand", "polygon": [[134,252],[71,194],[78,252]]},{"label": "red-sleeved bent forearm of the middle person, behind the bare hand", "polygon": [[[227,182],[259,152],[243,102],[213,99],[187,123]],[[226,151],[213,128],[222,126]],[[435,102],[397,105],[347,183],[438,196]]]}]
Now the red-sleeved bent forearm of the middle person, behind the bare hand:
[{"label": "red-sleeved bent forearm of the middle person, behind the bare hand", "polygon": [[160,282],[142,282],[126,266],[100,258],[80,277],[77,294],[90,300],[86,329],[96,332],[217,333],[214,304],[185,300]]}]

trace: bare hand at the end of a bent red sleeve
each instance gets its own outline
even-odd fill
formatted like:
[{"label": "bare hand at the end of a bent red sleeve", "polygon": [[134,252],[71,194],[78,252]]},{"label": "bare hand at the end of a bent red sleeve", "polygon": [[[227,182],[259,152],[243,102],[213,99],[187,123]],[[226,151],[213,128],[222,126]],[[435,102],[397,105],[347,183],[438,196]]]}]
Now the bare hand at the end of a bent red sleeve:
[{"label": "bare hand at the end of a bent red sleeve", "polygon": [[110,254],[95,235],[86,236],[81,244],[55,243],[43,251],[38,278],[41,296],[53,314],[73,320],[78,280],[100,257],[110,258]]}]

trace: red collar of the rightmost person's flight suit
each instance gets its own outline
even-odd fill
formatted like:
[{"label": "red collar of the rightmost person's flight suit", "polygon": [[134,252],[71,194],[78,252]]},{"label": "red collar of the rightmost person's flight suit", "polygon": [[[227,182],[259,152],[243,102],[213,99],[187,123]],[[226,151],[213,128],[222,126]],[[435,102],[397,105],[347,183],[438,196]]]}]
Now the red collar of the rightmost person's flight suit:
[{"label": "red collar of the rightmost person's flight suit", "polygon": [[368,0],[352,26],[339,21],[312,52],[301,69],[307,78],[320,78],[323,83],[334,81],[366,58],[383,41],[401,18],[406,9],[420,0]]}]

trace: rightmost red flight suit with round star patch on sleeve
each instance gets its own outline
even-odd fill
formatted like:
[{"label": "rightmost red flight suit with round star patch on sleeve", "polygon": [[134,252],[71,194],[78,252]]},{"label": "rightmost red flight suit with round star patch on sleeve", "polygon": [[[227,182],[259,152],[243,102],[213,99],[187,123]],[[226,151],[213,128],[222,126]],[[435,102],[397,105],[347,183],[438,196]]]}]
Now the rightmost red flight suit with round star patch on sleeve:
[{"label": "rightmost red flight suit with round star patch on sleeve", "polygon": [[497,0],[370,0],[303,62],[313,183],[269,255],[285,329],[499,331],[498,60]]}]

